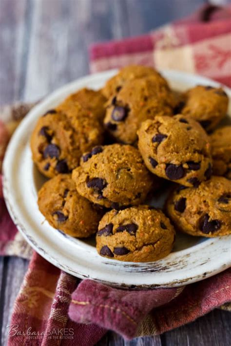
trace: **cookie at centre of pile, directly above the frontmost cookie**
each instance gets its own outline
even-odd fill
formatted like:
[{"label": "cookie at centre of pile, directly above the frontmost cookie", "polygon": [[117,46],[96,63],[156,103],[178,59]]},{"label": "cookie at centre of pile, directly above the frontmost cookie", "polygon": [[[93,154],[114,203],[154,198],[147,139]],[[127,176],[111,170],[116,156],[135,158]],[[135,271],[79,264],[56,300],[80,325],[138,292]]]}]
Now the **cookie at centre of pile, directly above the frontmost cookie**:
[{"label": "cookie at centre of pile, directly above the frontmost cookie", "polygon": [[138,150],[119,144],[84,154],[72,179],[81,196],[115,209],[140,204],[154,182]]}]

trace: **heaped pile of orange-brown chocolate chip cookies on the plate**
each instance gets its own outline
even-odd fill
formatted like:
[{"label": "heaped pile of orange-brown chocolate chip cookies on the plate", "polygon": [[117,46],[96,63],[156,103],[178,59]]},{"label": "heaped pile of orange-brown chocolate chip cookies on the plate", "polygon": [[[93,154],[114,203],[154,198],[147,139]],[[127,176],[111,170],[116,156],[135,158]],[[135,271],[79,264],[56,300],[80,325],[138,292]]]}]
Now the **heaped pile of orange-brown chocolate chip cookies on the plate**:
[{"label": "heaped pile of orange-brown chocolate chip cookies on the plate", "polygon": [[[99,255],[122,261],[163,258],[175,231],[231,234],[231,126],[214,130],[227,108],[221,88],[176,94],[144,66],[77,91],[31,137],[33,161],[50,178],[40,212],[73,237],[96,234]],[[167,181],[164,211],[148,205]]]}]

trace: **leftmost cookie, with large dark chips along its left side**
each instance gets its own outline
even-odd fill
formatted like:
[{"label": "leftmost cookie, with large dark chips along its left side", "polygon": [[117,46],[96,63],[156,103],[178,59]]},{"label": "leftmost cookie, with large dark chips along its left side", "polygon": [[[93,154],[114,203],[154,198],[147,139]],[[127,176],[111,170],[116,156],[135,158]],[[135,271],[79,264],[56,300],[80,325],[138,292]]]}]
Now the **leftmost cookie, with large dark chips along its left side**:
[{"label": "leftmost cookie, with large dark chips along its left side", "polygon": [[31,137],[33,161],[48,178],[71,172],[83,152],[103,141],[100,123],[79,105],[75,112],[49,110],[39,118]]}]

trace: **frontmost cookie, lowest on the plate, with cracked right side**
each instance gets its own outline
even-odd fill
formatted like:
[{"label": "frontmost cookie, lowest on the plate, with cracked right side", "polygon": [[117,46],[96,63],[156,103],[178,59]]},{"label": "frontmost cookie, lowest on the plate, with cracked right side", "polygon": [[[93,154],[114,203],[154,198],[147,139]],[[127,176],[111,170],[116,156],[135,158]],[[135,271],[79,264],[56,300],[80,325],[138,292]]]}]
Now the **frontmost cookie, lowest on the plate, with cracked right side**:
[{"label": "frontmost cookie, lowest on the plate, with cracked right side", "polygon": [[99,222],[99,255],[120,261],[151,262],[171,252],[174,229],[162,211],[147,205],[111,210]]}]

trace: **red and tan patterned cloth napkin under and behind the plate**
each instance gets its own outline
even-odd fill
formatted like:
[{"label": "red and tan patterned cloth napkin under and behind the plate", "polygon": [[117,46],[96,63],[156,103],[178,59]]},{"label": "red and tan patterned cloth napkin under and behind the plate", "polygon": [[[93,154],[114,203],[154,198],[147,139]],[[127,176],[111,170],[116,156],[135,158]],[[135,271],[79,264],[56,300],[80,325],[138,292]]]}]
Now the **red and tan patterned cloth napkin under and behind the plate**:
[{"label": "red and tan patterned cloth napkin under and behind the plate", "polygon": [[[200,73],[231,86],[231,7],[206,6],[148,35],[96,44],[92,72],[144,64]],[[0,108],[0,169],[7,143],[33,107]],[[0,180],[0,254],[31,258],[7,212]],[[230,309],[231,269],[187,287],[124,291],[61,272],[33,253],[15,302],[9,345],[94,345],[107,331],[125,338],[163,333],[220,307]]]}]

